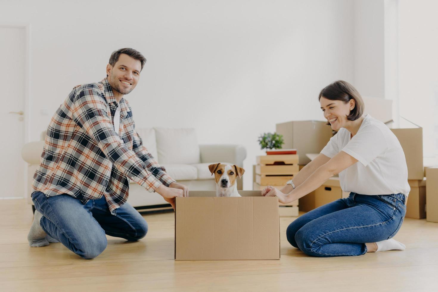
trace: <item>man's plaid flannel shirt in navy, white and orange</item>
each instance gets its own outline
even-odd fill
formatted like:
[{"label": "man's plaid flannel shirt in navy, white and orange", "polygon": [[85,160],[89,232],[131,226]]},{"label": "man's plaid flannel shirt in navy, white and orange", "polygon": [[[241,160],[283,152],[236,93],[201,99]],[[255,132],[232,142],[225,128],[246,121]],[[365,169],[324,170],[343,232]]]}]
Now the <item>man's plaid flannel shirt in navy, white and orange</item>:
[{"label": "man's plaid flannel shirt in navy, white and orange", "polygon": [[74,87],[49,123],[33,189],[49,197],[69,194],[84,204],[103,195],[115,214],[127,201],[128,178],[149,192],[174,182],[143,146],[127,100],[119,105],[117,134],[117,101],[108,80]]}]

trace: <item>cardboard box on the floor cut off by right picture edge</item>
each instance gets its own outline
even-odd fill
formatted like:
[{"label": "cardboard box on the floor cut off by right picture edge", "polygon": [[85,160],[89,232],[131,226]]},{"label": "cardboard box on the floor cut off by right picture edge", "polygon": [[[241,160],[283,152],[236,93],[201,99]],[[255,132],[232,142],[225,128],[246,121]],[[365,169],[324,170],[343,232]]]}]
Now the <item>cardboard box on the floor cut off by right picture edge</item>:
[{"label": "cardboard box on the floor cut off by right picture edge", "polygon": [[427,168],[426,178],[426,220],[438,222],[438,167]]}]

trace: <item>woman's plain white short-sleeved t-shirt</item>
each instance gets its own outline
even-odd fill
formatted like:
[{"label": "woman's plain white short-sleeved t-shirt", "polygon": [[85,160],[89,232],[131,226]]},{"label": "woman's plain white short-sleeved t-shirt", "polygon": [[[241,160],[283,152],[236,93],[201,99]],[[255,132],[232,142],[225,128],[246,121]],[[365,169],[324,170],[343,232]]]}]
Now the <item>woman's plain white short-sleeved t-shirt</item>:
[{"label": "woman's plain white short-sleeved t-shirt", "polygon": [[362,195],[389,195],[410,192],[406,158],[397,137],[370,115],[365,116],[357,134],[339,129],[321,153],[332,158],[340,151],[358,160],[339,172],[344,192]]}]

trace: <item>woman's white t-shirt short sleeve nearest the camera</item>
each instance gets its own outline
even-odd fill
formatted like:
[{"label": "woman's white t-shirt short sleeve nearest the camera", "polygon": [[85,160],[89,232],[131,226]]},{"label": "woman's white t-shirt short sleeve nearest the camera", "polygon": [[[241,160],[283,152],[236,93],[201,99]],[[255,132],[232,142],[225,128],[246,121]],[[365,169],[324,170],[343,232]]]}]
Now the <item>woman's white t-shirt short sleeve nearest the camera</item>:
[{"label": "woman's white t-shirt short sleeve nearest the camera", "polygon": [[361,129],[342,149],[348,155],[356,158],[364,166],[383,155],[388,149],[385,135],[376,126]]}]

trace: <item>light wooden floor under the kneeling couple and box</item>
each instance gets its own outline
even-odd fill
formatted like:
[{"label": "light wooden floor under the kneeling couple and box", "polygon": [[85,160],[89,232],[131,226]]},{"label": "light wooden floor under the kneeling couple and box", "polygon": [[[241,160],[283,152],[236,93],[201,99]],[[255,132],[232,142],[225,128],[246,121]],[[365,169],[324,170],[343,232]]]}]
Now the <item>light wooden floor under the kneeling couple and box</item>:
[{"label": "light wooden floor under the kneeling couple and box", "polygon": [[286,241],[294,218],[280,218],[280,260],[174,261],[173,213],[144,215],[145,239],[108,237],[83,260],[61,243],[31,248],[24,200],[0,200],[0,291],[438,291],[438,223],[406,219],[404,251],[308,257]]}]

